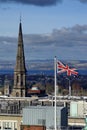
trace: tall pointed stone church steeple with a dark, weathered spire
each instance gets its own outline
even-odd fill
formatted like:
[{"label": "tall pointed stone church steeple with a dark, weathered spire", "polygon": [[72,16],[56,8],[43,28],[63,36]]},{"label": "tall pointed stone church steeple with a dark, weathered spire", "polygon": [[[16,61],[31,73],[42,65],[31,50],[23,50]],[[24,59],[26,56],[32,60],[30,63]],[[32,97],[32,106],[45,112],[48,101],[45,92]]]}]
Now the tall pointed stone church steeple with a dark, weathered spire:
[{"label": "tall pointed stone church steeple with a dark, weathered spire", "polygon": [[19,24],[18,48],[16,56],[16,65],[14,70],[14,87],[12,91],[14,97],[26,96],[26,67],[22,35],[22,23]]}]

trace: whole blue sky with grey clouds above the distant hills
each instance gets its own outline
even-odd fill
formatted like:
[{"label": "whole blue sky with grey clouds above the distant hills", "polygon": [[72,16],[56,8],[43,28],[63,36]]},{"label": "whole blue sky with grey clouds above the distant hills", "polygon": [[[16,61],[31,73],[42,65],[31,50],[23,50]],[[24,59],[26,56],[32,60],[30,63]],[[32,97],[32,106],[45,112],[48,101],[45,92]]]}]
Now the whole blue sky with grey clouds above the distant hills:
[{"label": "whole blue sky with grey clouds above the distant hills", "polygon": [[26,60],[87,60],[87,0],[0,0],[0,60],[16,60],[20,16]]}]

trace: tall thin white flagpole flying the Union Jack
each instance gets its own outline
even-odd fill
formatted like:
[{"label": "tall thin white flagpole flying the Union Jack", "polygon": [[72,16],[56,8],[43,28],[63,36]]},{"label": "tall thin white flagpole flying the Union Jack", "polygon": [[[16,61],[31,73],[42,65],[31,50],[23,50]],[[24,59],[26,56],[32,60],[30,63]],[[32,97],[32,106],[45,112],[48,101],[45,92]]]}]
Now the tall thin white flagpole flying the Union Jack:
[{"label": "tall thin white flagpole flying the Union Jack", "polygon": [[55,124],[55,130],[56,130],[56,86],[57,86],[57,80],[56,80],[56,56],[54,58],[54,86],[55,86],[55,106],[54,106],[54,124]]}]

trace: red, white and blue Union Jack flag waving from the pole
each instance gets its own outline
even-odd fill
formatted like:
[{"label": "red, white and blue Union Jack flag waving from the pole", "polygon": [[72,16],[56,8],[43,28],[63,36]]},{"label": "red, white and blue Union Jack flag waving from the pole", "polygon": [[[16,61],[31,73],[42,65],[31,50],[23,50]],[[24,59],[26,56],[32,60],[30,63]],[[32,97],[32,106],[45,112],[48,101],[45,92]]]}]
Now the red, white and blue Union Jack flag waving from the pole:
[{"label": "red, white and blue Union Jack flag waving from the pole", "polygon": [[73,75],[78,75],[78,72],[76,72],[75,70],[76,70],[76,68],[69,68],[68,65],[64,65],[60,61],[57,62],[57,72],[58,73],[67,72],[68,76],[71,76],[72,74]]}]

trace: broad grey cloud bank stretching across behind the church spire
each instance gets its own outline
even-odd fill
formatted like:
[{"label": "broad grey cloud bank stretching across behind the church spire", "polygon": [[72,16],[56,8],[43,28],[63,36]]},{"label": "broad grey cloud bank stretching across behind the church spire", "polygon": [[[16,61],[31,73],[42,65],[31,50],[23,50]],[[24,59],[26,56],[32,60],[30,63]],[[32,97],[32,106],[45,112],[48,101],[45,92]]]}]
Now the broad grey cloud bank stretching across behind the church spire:
[{"label": "broad grey cloud bank stretching across behind the church spire", "polygon": [[[25,57],[30,59],[87,60],[87,25],[53,29],[48,34],[24,34]],[[0,59],[15,60],[17,38],[0,37]]]}]

